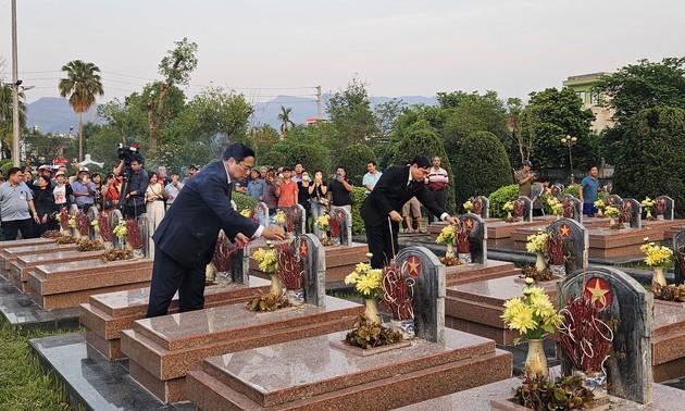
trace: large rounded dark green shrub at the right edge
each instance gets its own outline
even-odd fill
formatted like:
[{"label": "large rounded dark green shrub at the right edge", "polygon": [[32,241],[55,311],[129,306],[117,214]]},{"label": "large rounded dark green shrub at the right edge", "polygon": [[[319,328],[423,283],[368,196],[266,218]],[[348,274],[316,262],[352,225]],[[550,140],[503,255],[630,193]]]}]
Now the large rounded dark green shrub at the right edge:
[{"label": "large rounded dark green shrub at the right edge", "polygon": [[638,112],[618,149],[614,192],[622,197],[667,195],[685,204],[685,110],[653,108]]}]

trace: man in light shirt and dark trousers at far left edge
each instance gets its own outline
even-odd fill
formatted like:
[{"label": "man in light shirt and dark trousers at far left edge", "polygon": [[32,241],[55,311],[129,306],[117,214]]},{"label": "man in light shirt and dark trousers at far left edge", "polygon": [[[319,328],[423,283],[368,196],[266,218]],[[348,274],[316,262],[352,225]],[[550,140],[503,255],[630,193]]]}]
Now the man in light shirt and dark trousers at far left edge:
[{"label": "man in light shirt and dark trousers at far left edge", "polygon": [[32,238],[34,235],[32,215],[34,222],[38,224],[34,196],[24,183],[24,173],[20,167],[12,167],[8,172],[8,180],[0,185],[0,219],[4,239],[16,239],[20,231],[23,238]]}]

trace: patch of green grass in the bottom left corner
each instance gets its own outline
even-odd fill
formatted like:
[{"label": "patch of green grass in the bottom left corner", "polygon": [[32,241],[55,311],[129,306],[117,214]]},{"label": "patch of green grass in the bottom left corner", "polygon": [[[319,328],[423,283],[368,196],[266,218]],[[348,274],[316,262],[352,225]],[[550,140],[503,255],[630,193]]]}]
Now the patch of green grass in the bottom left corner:
[{"label": "patch of green grass in the bottom left corner", "polygon": [[0,326],[0,410],[71,410],[64,387],[40,366],[28,345],[47,335],[21,336],[7,323]]}]

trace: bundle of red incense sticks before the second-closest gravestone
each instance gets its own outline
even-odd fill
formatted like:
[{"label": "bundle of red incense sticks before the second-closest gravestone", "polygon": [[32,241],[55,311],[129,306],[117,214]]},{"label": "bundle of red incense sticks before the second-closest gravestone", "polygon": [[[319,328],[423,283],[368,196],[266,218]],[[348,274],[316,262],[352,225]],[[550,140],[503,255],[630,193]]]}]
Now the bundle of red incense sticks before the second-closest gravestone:
[{"label": "bundle of red incense sticks before the second-closest gravestone", "polygon": [[398,270],[395,261],[383,269],[383,301],[390,311],[390,328],[402,334],[404,339],[414,337],[414,284],[415,281],[406,274],[404,262]]}]

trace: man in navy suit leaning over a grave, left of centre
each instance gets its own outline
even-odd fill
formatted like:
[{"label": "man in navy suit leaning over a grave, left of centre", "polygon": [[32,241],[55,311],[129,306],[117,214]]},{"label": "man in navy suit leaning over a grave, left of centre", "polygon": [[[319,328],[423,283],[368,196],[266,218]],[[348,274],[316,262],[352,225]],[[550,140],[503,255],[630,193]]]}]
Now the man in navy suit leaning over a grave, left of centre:
[{"label": "man in navy suit leaning over a grave, left of centre", "polygon": [[180,312],[204,307],[204,270],[220,229],[238,245],[260,236],[285,238],[282,227],[263,227],[231,207],[232,182],[247,176],[253,164],[254,151],[234,144],[221,161],[185,184],[152,236],[155,248],[148,317],[165,315],[176,290]]}]

